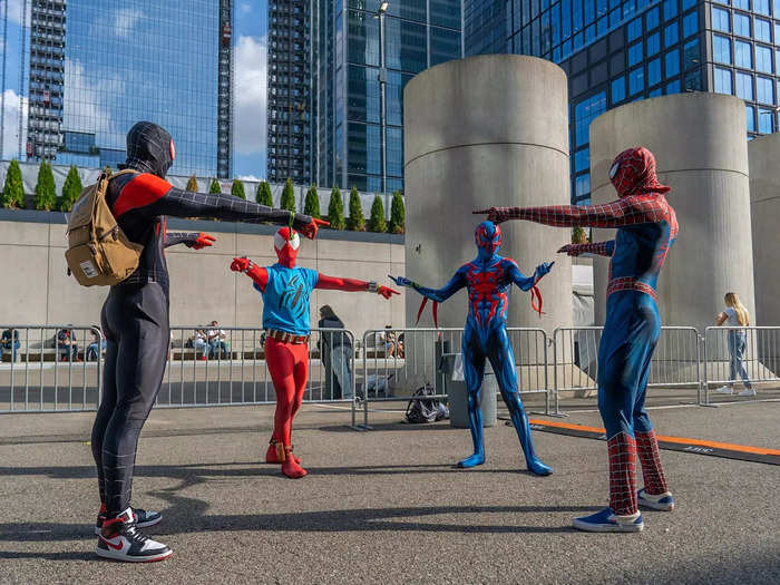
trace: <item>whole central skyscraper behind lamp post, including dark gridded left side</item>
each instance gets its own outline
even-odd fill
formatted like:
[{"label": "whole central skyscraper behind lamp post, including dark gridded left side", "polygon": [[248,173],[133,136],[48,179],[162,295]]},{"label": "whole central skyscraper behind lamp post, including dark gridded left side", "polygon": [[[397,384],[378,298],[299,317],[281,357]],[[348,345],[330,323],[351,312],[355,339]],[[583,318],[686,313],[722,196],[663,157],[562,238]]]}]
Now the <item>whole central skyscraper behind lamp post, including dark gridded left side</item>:
[{"label": "whole central skyscraper behind lamp post, including dark gridded left side", "polygon": [[[270,0],[269,178],[403,188],[403,87],[462,56],[460,0]],[[386,90],[382,124],[381,90]],[[382,128],[384,158],[382,173]],[[296,181],[298,182],[298,181]]]}]

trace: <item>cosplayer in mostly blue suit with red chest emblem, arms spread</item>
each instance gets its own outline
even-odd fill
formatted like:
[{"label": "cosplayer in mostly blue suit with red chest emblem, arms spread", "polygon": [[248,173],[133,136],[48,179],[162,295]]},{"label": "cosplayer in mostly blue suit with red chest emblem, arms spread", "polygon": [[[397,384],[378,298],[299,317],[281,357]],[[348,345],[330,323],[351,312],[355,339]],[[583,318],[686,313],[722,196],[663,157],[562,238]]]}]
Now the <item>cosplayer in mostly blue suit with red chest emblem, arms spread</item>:
[{"label": "cosplayer in mostly blue suit with red chest emblem, arms spread", "polygon": [[[441,289],[421,286],[404,276],[390,276],[399,286],[411,286],[426,299],[440,303],[452,296],[464,286],[468,287],[468,315],[464,326],[461,351],[464,355],[464,377],[468,390],[468,413],[474,455],[458,462],[458,467],[475,467],[485,462],[482,441],[481,400],[485,360],[490,360],[496,374],[501,397],[509,408],[511,421],[520,438],[523,452],[528,469],[536,475],[546,476],[553,470],[543,464],[534,452],[530,426],[520,394],[517,389],[517,370],[515,353],[507,334],[506,312],[509,306],[511,285],[521,290],[534,289],[537,282],[553,267],[552,262],[539,264],[533,276],[524,276],[517,263],[497,254],[501,245],[501,228],[491,222],[482,222],[475,233],[477,257],[464,264],[455,276]],[[436,311],[436,305],[433,305]]]}]

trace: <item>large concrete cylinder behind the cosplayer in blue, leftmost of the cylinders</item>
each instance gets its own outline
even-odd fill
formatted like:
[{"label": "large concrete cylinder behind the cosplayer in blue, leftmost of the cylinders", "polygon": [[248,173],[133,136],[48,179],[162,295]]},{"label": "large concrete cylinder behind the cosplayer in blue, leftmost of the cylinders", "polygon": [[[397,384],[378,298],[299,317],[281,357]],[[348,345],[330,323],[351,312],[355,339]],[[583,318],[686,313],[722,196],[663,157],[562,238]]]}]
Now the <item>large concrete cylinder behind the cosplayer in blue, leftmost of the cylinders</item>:
[{"label": "large concrete cylinder behind the cosplayer in blue, leftmost of the cylinders", "polygon": [[[403,100],[410,279],[442,286],[476,256],[474,231],[485,217],[472,215],[475,208],[569,203],[567,85],[556,65],[513,55],[449,61],[415,77]],[[525,274],[556,261],[539,285],[547,314],[539,319],[528,295],[515,290],[509,324],[571,325],[572,264],[555,254],[569,231],[525,222],[501,227],[500,254]],[[419,303],[409,291],[409,324]],[[466,313],[466,292],[459,292],[439,309],[439,323],[460,328]],[[420,324],[432,325],[430,311]]]}]

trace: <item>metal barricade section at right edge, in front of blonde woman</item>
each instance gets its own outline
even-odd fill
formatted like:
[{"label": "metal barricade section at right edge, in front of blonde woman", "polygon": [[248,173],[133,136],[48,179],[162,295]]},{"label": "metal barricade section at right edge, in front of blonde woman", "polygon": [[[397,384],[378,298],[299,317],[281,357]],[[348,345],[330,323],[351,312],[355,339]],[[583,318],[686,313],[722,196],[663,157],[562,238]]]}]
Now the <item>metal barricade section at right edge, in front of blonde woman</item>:
[{"label": "metal barricade section at right edge, in front of blonde woman", "polygon": [[[779,326],[709,326],[704,330],[703,403],[711,404],[710,386],[780,381]],[[774,386],[774,388],[772,388]]]}]

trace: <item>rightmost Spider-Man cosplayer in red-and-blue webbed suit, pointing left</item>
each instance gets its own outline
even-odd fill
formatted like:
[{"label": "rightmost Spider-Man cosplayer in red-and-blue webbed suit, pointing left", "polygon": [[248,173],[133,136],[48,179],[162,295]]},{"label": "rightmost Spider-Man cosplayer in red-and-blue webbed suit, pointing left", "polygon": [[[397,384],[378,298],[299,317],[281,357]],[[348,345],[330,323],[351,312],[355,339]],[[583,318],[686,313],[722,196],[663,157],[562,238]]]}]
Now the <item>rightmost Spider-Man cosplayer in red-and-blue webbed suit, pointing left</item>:
[{"label": "rightmost Spider-Man cosplayer in red-and-blue webbed suit, pointing left", "polygon": [[[597,380],[610,455],[610,507],[576,518],[574,526],[588,532],[640,532],[644,524],[638,504],[660,510],[674,507],[644,399],[650,362],[661,334],[655,287],[677,234],[677,220],[663,195],[670,187],[659,183],[655,158],[646,148],[617,155],[610,178],[620,198],[605,205],[491,207],[476,213],[489,213],[496,222],[527,220],[560,227],[617,228],[613,241],[567,244],[558,251],[612,259]],[[638,493],[637,449],[645,481]]]}]

